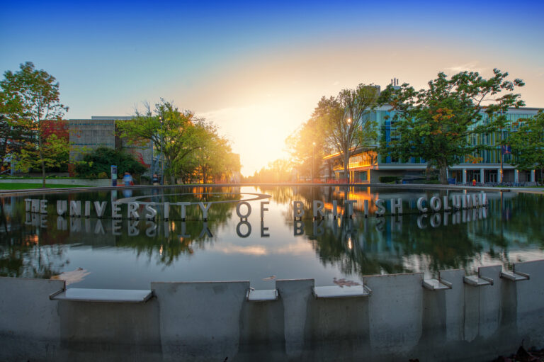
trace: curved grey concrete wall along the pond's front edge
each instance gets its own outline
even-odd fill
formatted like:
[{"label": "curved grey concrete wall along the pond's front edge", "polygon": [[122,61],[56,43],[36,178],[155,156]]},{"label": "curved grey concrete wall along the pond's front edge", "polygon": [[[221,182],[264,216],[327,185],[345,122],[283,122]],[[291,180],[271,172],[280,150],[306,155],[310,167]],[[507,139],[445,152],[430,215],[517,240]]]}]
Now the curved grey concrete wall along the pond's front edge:
[{"label": "curved grey concrete wall along the pond's front edge", "polygon": [[[0,360],[485,361],[544,348],[544,261],[526,281],[480,268],[493,285],[442,271],[363,278],[372,294],[317,299],[313,280],[276,281],[278,300],[248,302],[249,282],[152,283],[144,304],[52,301],[62,281],[0,278]],[[348,287],[344,287],[348,288]],[[228,357],[228,359],[226,359]]]}]

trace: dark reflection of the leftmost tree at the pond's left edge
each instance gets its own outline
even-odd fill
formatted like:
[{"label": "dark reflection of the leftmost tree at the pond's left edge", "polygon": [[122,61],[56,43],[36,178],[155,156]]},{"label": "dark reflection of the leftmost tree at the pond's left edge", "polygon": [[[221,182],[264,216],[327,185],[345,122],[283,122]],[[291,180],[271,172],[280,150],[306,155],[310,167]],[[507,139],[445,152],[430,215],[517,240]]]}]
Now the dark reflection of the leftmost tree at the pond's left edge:
[{"label": "dark reflection of the leftmost tree at the pond's left edge", "polygon": [[50,278],[58,274],[69,263],[62,260],[64,246],[43,244],[38,234],[47,230],[23,224],[28,216],[24,203],[9,203],[11,212],[6,213],[11,200],[0,198],[0,276]]}]

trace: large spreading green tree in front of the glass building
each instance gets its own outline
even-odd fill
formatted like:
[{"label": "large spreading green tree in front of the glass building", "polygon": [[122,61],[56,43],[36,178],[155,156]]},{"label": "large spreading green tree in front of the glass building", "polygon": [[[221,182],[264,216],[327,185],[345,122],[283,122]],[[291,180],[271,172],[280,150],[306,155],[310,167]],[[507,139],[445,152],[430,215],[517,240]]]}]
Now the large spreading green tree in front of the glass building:
[{"label": "large spreading green tree in front of the glass building", "polygon": [[448,166],[460,163],[465,154],[491,147],[473,139],[502,127],[508,108],[524,106],[519,94],[499,96],[523,86],[523,81],[508,81],[508,73],[499,69],[493,73],[484,79],[465,71],[448,79],[441,72],[429,81],[429,89],[419,91],[409,84],[387,86],[379,103],[388,103],[395,113],[391,141],[382,139],[380,152],[396,159],[421,157],[439,170],[441,183],[448,183]]}]

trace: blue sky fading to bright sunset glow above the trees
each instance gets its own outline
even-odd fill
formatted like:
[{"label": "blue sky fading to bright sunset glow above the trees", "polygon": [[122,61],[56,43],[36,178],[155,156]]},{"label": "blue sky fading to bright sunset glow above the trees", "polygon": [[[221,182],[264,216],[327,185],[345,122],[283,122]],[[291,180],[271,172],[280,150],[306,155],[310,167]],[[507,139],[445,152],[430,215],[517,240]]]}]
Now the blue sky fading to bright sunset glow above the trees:
[{"label": "blue sky fading to bright sunset glow above the trees", "polygon": [[3,1],[0,71],[33,62],[65,118],[173,101],[212,121],[249,176],[288,157],[319,98],[396,77],[498,68],[544,108],[543,1]]}]

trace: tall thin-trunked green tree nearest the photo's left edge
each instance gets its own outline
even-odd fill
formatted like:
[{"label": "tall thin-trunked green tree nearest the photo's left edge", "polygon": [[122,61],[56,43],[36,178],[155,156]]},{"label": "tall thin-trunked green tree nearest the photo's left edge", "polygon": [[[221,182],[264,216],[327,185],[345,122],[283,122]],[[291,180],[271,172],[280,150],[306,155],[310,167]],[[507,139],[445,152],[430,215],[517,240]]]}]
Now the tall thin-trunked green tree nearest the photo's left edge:
[{"label": "tall thin-trunked green tree nearest the photo's left edge", "polygon": [[[68,107],[60,103],[59,83],[55,77],[36,70],[32,62],[20,65],[18,72],[4,72],[4,80],[0,87],[4,93],[4,102],[18,109],[18,124],[33,132],[36,147],[26,147],[26,152],[35,149],[42,169],[42,186],[45,187],[45,167],[50,155],[45,154],[45,137],[42,123],[45,120],[58,120],[68,111]],[[55,147],[49,148],[50,152]],[[30,161],[30,159],[28,159]],[[21,161],[19,161],[21,162]]]}]

